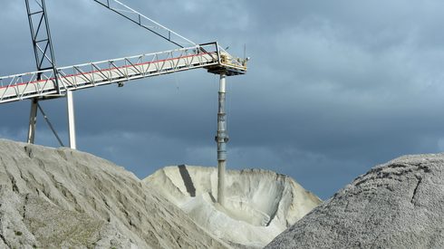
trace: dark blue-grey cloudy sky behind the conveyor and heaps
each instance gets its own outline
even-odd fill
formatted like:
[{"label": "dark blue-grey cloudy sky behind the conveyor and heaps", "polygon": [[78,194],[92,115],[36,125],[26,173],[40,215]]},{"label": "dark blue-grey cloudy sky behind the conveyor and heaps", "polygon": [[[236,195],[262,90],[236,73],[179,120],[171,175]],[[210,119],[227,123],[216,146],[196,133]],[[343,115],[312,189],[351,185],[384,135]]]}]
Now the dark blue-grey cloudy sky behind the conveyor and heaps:
[{"label": "dark blue-grey cloudy sky behind the conveyor and heaps", "polygon": [[[444,2],[124,3],[196,43],[251,57],[227,78],[227,168],[265,168],[322,198],[376,164],[444,148]],[[46,0],[57,64],[174,48],[92,0]],[[24,1],[0,7],[0,75],[34,71]],[[217,75],[203,69],[75,91],[78,148],[147,177],[216,166]],[[43,109],[67,140],[63,99]],[[30,101],[0,106],[0,138],[24,141]],[[36,143],[57,146],[41,116]]]}]

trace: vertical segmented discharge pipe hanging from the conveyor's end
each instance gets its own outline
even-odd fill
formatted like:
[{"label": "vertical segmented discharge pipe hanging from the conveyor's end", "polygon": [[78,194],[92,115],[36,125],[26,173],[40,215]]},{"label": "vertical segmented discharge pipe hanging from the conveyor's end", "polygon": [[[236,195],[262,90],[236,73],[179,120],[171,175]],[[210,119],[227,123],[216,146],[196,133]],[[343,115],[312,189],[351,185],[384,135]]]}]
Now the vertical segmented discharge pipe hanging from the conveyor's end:
[{"label": "vertical segmented discharge pipe hanging from the conveyor's end", "polygon": [[227,165],[227,122],[225,113],[226,74],[220,74],[217,111],[217,203],[225,206],[225,170]]}]

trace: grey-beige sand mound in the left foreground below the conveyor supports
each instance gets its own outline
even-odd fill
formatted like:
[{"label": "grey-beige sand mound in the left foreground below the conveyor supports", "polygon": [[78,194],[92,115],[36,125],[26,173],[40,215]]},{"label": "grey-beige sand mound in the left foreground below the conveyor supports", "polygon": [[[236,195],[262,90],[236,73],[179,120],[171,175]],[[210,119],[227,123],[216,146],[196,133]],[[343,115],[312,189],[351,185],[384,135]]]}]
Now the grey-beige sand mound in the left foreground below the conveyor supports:
[{"label": "grey-beige sand mound in the left foreground below the conveyor supports", "polygon": [[224,248],[111,162],[0,139],[0,248]]}]

